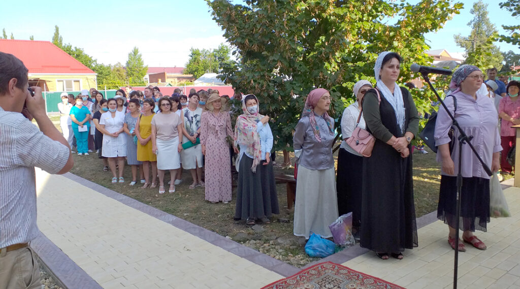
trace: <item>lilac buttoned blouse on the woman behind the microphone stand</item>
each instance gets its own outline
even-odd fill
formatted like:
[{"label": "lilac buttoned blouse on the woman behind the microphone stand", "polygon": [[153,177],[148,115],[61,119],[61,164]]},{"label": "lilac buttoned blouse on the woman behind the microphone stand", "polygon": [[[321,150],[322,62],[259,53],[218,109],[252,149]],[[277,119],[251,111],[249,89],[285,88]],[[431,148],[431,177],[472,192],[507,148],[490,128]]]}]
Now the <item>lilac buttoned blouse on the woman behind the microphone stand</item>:
[{"label": "lilac buttoned blouse on the woman behind the microphone stand", "polygon": [[[457,98],[455,119],[466,135],[473,136],[471,144],[473,144],[477,153],[482,157],[484,163],[491,168],[493,153],[502,150],[498,133],[498,113],[495,109],[495,104],[489,97],[478,95],[475,100],[471,95],[464,94],[462,91],[454,94],[454,96]],[[444,103],[453,114],[453,98],[447,97]],[[444,107],[441,106],[435,122],[436,146],[450,142],[448,137],[450,127],[451,119]],[[457,175],[459,167],[459,143],[457,141],[459,135],[459,130],[456,128],[453,133],[453,139],[456,143],[451,154],[451,159],[455,164],[455,175],[453,176]],[[437,153],[437,162],[442,163],[440,153]],[[444,171],[441,171],[441,174],[449,176]],[[467,144],[462,146],[462,176],[465,178],[479,177],[489,179],[484,168]]]}]

